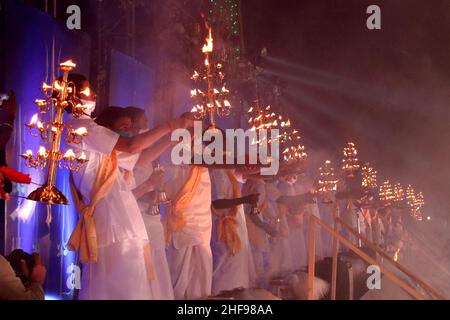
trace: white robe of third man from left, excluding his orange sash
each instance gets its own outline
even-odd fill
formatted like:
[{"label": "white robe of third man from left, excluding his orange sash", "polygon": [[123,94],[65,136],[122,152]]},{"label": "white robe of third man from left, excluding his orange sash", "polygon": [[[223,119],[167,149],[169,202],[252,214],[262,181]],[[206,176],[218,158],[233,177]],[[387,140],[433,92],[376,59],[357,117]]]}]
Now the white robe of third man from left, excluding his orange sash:
[{"label": "white robe of third man from left, excluding his orange sash", "polygon": [[[175,199],[191,167],[168,165],[165,170],[169,177],[166,192]],[[172,234],[172,243],[167,248],[175,299],[204,299],[211,295],[211,180],[208,170],[201,170],[198,192],[183,211],[186,225]]]}]

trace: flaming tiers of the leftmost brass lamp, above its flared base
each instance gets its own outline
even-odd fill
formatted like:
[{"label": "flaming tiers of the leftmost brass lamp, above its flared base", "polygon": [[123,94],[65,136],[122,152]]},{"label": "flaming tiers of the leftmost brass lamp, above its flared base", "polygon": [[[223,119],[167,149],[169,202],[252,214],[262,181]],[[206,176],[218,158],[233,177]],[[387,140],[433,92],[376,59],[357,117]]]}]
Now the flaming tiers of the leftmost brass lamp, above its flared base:
[{"label": "flaming tiers of the leftmost brass lamp, above its flared base", "polygon": [[[60,69],[65,74],[64,79],[62,81],[55,80],[51,85],[47,83],[42,84],[42,91],[45,94],[45,99],[35,100],[35,103],[39,108],[39,113],[41,115],[47,114],[53,106],[57,110],[57,115],[52,116],[52,119],[49,122],[39,119],[38,113],[33,115],[31,121],[25,125],[32,136],[41,137],[44,141],[48,141],[50,138],[55,140],[55,137],[59,137],[64,129],[66,129],[66,142],[79,144],[81,143],[82,138],[88,135],[85,127],[74,129],[70,127],[70,125],[62,122],[63,110],[67,107],[72,109],[72,115],[74,117],[78,118],[84,113],[86,107],[75,98],[77,94],[86,98],[91,95],[89,88],[76,93],[75,85],[67,81],[68,73],[75,67],[76,64],[71,60],[61,63]],[[35,155],[33,155],[32,150],[27,150],[21,157],[25,159],[27,167],[39,169],[44,169],[49,161],[53,161],[58,163],[60,168],[78,171],[87,161],[84,152],[78,156],[75,155],[72,149],[69,149],[64,153],[61,152],[61,150],[59,150],[59,141],[57,144],[52,143],[51,150],[48,150],[44,146],[40,146]]]}]

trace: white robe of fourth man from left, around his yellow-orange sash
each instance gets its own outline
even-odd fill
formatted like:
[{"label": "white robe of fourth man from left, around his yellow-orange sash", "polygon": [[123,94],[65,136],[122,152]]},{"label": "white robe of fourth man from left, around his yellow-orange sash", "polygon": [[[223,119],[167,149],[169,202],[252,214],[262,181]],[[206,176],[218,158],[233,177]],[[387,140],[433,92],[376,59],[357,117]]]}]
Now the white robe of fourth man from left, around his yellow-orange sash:
[{"label": "white robe of fourth man from left, around his yellow-orange sash", "polygon": [[[213,170],[212,182],[215,199],[232,199],[233,187],[225,170]],[[255,266],[250,252],[247,224],[245,222],[244,207],[240,205],[236,214],[237,233],[241,240],[241,249],[232,255],[224,241],[217,239],[217,217],[213,216],[213,236],[211,246],[213,251],[213,286],[212,293],[235,288],[250,288],[254,284]]]}]

